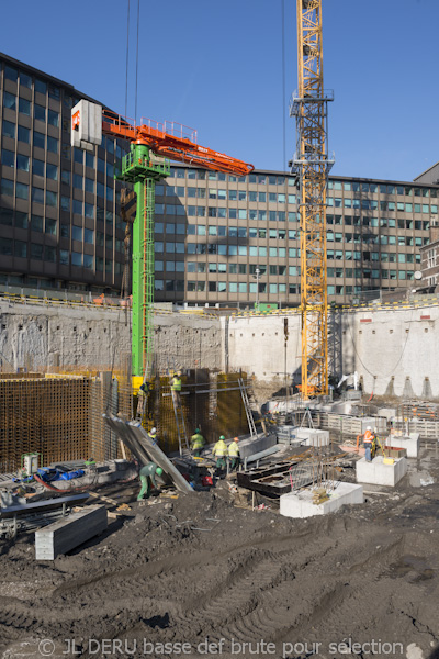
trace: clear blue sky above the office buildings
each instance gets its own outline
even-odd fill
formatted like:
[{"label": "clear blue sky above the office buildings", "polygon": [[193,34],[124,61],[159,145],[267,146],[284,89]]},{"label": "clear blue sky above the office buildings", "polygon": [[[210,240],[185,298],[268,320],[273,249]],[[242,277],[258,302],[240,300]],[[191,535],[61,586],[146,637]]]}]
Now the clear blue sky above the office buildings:
[{"label": "clear blue sky above the office buildings", "polygon": [[[127,5],[3,0],[0,49],[124,114]],[[285,170],[295,148],[285,107],[297,87],[295,0],[284,0],[283,30],[282,13],[282,0],[140,0],[137,118],[192,126],[199,144]],[[128,116],[136,15],[131,0]],[[323,0],[334,174],[412,180],[439,160],[438,24],[438,0]]]}]

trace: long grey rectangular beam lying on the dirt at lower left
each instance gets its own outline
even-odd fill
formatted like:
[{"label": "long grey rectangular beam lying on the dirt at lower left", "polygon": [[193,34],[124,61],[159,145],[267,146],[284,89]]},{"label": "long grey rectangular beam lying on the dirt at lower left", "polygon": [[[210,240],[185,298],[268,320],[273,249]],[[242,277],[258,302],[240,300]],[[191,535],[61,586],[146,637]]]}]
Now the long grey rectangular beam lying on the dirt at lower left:
[{"label": "long grey rectangular beam lying on the dirt at lower left", "polygon": [[54,560],[108,527],[106,509],[90,505],[35,532],[35,559]]}]

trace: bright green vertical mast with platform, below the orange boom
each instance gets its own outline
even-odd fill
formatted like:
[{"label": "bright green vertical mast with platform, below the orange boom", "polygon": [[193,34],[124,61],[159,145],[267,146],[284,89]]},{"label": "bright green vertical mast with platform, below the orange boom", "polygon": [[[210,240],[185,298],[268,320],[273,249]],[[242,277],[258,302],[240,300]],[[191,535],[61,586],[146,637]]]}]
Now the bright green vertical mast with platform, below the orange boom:
[{"label": "bright green vertical mast with platform, below the orange boom", "polygon": [[169,176],[169,160],[158,159],[144,144],[132,144],[122,159],[120,180],[134,183],[133,225],[133,376],[150,376],[154,358],[154,209],[156,181]]}]

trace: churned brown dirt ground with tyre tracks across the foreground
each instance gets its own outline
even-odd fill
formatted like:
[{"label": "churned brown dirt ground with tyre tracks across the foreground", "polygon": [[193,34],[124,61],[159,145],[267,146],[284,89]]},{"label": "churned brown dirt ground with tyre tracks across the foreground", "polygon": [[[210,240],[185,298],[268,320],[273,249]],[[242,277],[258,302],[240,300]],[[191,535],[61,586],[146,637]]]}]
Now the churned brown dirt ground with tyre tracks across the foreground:
[{"label": "churned brown dirt ground with tyre tracks across the foreground", "polygon": [[0,656],[439,658],[438,465],[308,520],[225,482],[151,505],[106,488],[133,517],[70,555],[1,544]]}]

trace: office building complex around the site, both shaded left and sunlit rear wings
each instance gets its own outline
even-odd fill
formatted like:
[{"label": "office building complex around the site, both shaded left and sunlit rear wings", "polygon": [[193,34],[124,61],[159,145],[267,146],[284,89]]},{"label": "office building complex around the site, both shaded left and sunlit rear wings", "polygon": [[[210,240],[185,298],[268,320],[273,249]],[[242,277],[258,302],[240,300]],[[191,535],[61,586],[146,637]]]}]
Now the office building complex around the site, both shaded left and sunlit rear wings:
[{"label": "office building complex around the site, both shaded left and sunlit rear wings", "polygon": [[[70,109],[89,97],[0,58],[0,286],[116,293],[124,226],[113,176],[128,145],[103,138],[94,153],[71,149]],[[329,179],[329,302],[413,286],[438,215],[437,182]],[[173,166],[156,187],[156,301],[299,304],[297,201],[282,171]]]}]

